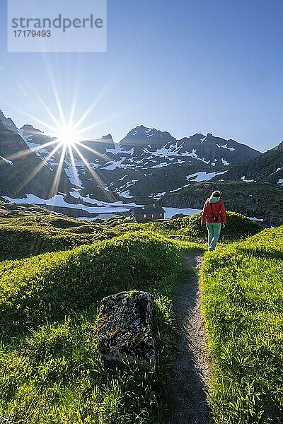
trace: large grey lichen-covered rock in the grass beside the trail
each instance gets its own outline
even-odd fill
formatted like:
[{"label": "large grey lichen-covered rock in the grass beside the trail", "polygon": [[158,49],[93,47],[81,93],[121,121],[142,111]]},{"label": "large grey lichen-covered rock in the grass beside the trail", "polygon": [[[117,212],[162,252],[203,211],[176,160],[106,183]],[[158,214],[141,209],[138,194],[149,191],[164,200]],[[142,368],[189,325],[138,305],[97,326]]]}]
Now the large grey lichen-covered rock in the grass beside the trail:
[{"label": "large grey lichen-covered rock in the grass beside the trail", "polygon": [[104,298],[98,317],[98,349],[103,357],[156,365],[152,310],[152,295],[142,291]]}]

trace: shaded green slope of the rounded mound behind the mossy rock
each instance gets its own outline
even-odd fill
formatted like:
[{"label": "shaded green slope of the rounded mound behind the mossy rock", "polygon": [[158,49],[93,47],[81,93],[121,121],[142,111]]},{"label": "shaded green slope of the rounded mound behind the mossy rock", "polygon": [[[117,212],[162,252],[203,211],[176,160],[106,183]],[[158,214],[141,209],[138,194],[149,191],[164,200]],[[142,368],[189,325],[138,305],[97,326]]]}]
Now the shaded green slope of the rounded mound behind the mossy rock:
[{"label": "shaded green slope of the rounded mound behind the mossy rock", "polygon": [[11,262],[8,269],[2,262],[1,334],[11,336],[46,320],[62,319],[110,293],[152,289],[152,282],[170,272],[173,262],[162,259],[170,255],[173,247],[152,236],[139,240],[127,235],[16,261],[13,268]]}]

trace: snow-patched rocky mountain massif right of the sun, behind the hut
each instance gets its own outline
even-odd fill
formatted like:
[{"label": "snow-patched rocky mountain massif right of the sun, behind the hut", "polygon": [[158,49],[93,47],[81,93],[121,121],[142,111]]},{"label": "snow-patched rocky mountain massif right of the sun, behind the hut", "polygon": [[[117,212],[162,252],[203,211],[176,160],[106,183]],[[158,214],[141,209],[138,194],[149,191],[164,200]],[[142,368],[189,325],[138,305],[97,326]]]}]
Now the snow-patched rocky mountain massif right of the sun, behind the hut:
[{"label": "snow-patched rocky mountain massif right of the sun, behind the hut", "polygon": [[115,174],[109,189],[122,195],[158,198],[192,182],[223,175],[229,167],[261,153],[212,134],[177,140],[168,132],[137,126],[108,155],[110,160],[102,170]]}]

